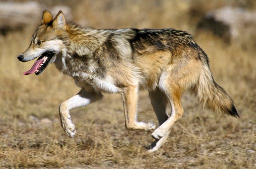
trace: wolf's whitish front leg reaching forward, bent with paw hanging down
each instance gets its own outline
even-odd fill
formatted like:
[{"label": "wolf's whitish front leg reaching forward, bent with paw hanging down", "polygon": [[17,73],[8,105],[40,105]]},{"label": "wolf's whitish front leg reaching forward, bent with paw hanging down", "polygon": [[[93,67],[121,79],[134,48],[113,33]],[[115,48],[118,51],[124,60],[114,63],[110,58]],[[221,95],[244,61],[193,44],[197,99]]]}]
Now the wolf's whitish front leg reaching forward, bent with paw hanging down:
[{"label": "wolf's whitish front leg reaching forward, bent with paw hanging down", "polygon": [[68,136],[73,137],[76,132],[75,125],[71,121],[69,111],[74,108],[86,106],[101,99],[102,97],[103,95],[101,93],[87,92],[85,89],[81,89],[75,96],[61,103],[59,107],[60,122]]}]

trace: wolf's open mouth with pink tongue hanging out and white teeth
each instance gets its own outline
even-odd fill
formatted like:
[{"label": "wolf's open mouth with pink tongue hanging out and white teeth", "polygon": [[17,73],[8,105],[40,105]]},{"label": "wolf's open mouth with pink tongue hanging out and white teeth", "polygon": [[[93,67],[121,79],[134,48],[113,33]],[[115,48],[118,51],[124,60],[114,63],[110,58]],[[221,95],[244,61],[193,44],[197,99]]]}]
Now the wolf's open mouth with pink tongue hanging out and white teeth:
[{"label": "wolf's open mouth with pink tongue hanging out and white teeth", "polygon": [[49,64],[49,61],[52,59],[53,55],[54,53],[51,51],[47,51],[40,55],[34,65],[30,68],[30,70],[24,72],[24,75],[30,75],[32,73],[39,75],[40,73],[42,73]]}]

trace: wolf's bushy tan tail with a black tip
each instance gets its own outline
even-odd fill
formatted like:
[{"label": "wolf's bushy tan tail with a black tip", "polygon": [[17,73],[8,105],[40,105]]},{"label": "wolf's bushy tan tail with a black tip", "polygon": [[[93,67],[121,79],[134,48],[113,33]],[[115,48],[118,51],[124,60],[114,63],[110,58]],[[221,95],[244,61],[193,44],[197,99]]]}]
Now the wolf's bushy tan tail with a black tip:
[{"label": "wolf's bushy tan tail with a black tip", "polygon": [[203,69],[195,85],[194,94],[203,105],[215,112],[225,113],[234,117],[239,117],[232,99],[213,79],[209,69],[207,55],[200,49],[203,61]]}]

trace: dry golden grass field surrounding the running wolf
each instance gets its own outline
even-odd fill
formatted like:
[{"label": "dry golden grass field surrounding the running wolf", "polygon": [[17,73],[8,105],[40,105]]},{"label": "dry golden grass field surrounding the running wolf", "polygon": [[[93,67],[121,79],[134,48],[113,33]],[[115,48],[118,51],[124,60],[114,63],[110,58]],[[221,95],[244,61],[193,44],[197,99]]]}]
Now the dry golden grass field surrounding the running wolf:
[{"label": "dry golden grass field surrounding the running wolf", "polygon": [[[194,35],[240,119],[203,109],[184,94],[184,116],[166,144],[147,153],[152,131],[125,129],[120,95],[105,94],[103,100],[71,111],[77,134],[69,138],[60,126],[58,106],[79,88],[54,65],[40,76],[23,75],[32,62],[19,62],[17,56],[36,29],[29,27],[0,35],[0,168],[256,168],[256,31],[244,32],[229,45],[209,32],[195,33],[198,17],[207,10],[256,6],[253,1],[206,2],[64,1],[74,21],[85,19],[91,27],[175,28]],[[198,15],[191,16],[191,9]],[[157,121],[146,91],[140,95],[139,120]]]}]

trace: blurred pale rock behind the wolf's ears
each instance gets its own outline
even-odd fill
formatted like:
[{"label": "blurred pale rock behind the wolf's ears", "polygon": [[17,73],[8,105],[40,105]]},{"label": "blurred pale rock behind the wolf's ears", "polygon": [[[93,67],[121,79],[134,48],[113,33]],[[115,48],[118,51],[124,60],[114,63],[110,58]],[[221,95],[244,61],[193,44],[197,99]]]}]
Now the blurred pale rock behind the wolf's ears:
[{"label": "blurred pale rock behind the wolf's ears", "polygon": [[44,4],[37,2],[0,2],[0,34],[6,35],[10,31],[22,31],[28,26],[38,26],[46,9],[52,12],[53,17],[62,10],[66,20],[72,20],[71,10],[67,6],[46,8]]}]

